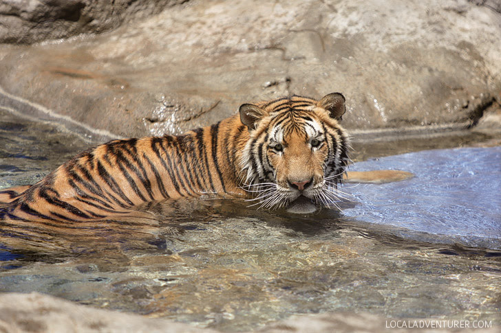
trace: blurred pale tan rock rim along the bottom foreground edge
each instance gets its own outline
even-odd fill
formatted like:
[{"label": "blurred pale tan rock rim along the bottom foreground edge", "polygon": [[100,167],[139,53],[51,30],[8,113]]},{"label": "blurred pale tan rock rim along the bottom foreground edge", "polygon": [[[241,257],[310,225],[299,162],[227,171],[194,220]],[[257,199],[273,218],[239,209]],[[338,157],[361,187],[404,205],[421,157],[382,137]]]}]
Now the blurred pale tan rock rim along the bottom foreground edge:
[{"label": "blurred pale tan rock rim along the bottom foreground edge", "polygon": [[[407,332],[406,328],[394,328],[392,326],[397,325],[397,320],[399,327],[403,325],[404,321],[407,325],[413,325],[414,323],[414,320],[407,321],[406,319],[396,319],[392,323],[392,319],[385,319],[367,313],[324,313],[291,317],[290,319],[267,325],[257,332],[387,332],[390,327],[394,332]],[[441,325],[444,325],[444,321],[441,319],[428,322],[429,325],[432,323],[437,325],[439,321],[442,322]],[[416,322],[419,325],[420,321],[417,320]],[[457,325],[460,324],[460,321],[445,320],[445,323],[447,322],[449,322],[448,325],[454,325],[454,322]],[[444,327],[440,329],[435,326],[431,330],[421,328],[420,331],[493,333],[499,330],[499,327],[492,325],[489,328],[472,329],[470,327],[469,329],[465,329],[465,321],[462,322],[462,328],[447,329],[447,327]],[[473,325],[472,321],[469,321],[469,325]],[[42,295],[38,292],[30,294],[14,292],[0,294],[0,331],[10,333],[219,332],[209,328],[194,328],[185,323],[175,323],[165,319],[148,319],[138,314],[90,308],[56,297]]]}]

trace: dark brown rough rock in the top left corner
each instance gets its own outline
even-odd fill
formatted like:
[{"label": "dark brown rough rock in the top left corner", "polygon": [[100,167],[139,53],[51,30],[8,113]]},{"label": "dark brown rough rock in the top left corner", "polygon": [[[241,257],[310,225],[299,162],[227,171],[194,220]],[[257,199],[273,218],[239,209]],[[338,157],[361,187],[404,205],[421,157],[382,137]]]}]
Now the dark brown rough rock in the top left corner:
[{"label": "dark brown rough rock in the top left corner", "polygon": [[182,0],[0,1],[0,43],[31,44],[114,29]]}]

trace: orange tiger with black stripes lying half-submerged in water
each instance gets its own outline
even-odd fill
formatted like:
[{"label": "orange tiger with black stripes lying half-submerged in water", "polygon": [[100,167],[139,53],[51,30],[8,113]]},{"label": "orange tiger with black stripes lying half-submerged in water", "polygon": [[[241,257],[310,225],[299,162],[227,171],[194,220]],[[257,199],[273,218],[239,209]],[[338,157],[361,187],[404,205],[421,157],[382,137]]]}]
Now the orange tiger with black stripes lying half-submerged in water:
[{"label": "orange tiger with black stripes lying half-submerged in water", "polygon": [[0,191],[0,223],[103,219],[206,194],[266,209],[300,196],[328,205],[349,161],[344,113],[341,93],[320,100],[292,95],[242,104],[232,117],[182,135],[109,141],[34,185]]}]

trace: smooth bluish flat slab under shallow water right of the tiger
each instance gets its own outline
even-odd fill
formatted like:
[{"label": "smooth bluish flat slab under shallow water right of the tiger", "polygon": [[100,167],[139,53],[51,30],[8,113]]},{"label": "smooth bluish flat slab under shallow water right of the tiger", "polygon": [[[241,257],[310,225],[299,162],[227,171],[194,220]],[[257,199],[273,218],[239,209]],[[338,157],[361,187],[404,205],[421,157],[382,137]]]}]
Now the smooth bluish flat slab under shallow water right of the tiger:
[{"label": "smooth bluish flat slab under shallow water right of the tiger", "polygon": [[395,168],[416,176],[381,185],[347,185],[357,204],[345,216],[387,226],[405,238],[501,249],[501,147],[425,150],[355,163],[350,170]]}]

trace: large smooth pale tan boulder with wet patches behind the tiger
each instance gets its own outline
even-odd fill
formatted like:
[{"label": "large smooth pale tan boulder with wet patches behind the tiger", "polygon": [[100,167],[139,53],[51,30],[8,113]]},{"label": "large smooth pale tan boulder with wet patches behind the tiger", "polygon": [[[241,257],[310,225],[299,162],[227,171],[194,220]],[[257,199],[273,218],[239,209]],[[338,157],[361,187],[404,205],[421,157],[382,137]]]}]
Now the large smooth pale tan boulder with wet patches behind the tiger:
[{"label": "large smooth pale tan boulder with wet patches behind the tiger", "polygon": [[182,133],[244,102],[333,91],[347,96],[352,133],[462,128],[501,93],[501,14],[489,3],[189,3],[98,36],[3,45],[0,86],[117,137]]}]

